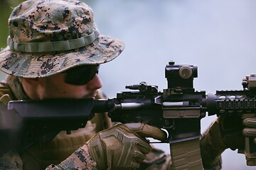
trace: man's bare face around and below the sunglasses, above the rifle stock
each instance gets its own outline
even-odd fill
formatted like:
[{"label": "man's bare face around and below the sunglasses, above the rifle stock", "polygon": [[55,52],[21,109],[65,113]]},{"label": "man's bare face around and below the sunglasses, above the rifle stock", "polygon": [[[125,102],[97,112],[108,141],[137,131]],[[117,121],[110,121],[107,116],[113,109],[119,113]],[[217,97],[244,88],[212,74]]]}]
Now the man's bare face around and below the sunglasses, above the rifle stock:
[{"label": "man's bare face around and below the sunglasses, above the rifle stock", "polygon": [[43,78],[40,98],[94,98],[97,89],[102,87],[102,81],[97,74],[85,85],[65,83],[66,74],[59,73]]}]

